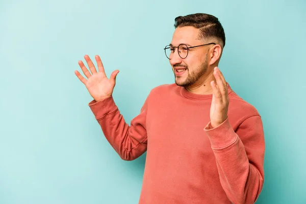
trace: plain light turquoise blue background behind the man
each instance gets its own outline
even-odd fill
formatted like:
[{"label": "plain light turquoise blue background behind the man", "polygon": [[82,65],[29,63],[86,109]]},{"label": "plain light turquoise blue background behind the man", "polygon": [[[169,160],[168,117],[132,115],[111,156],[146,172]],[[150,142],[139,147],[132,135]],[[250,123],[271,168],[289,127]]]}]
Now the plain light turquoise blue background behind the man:
[{"label": "plain light turquoise blue background behind the man", "polygon": [[[163,48],[174,18],[210,13],[226,34],[220,69],[264,122],[257,203],[306,203],[305,1],[0,2],[0,203],[137,203],[145,154],[122,161],[74,75],[100,55],[119,69],[126,122],[151,88],[173,83]],[[205,125],[205,124],[203,124]]]}]

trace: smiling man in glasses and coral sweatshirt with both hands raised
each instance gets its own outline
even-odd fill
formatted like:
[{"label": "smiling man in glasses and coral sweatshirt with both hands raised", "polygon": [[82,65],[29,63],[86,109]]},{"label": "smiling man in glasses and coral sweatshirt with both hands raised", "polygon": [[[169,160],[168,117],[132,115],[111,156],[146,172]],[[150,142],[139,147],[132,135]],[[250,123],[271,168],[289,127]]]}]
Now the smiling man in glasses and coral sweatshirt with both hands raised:
[{"label": "smiling man in glasses and coral sweatshirt with both hands raised", "polygon": [[107,78],[95,56],[79,65],[89,106],[123,160],[147,151],[139,203],[254,203],[263,187],[261,117],[231,89],[218,68],[225,45],[215,16],[175,18],[165,47],[175,83],[151,90],[140,114],[125,123],[112,97],[118,70]]}]

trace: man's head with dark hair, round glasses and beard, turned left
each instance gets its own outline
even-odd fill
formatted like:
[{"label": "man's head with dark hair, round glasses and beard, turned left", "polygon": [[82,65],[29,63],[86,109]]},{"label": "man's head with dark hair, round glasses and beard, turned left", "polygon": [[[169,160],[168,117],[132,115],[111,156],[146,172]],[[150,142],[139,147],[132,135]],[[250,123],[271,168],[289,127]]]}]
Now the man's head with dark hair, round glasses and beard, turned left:
[{"label": "man's head with dark hair, round glasses and beard, turned left", "polygon": [[203,82],[218,65],[225,46],[224,30],[218,18],[204,13],[179,16],[174,27],[172,41],[165,52],[170,58],[175,83],[188,87]]}]

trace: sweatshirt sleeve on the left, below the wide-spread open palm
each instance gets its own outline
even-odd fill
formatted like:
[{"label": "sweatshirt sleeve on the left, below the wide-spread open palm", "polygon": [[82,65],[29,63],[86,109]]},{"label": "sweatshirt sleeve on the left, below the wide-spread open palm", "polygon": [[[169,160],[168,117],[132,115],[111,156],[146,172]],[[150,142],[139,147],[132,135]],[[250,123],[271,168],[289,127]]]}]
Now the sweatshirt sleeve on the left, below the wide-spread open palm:
[{"label": "sweatshirt sleeve on the left, below the wide-spread open palm", "polygon": [[122,160],[135,160],[146,151],[147,99],[140,114],[131,121],[131,126],[125,122],[112,96],[98,102],[93,100],[89,107],[106,139]]}]

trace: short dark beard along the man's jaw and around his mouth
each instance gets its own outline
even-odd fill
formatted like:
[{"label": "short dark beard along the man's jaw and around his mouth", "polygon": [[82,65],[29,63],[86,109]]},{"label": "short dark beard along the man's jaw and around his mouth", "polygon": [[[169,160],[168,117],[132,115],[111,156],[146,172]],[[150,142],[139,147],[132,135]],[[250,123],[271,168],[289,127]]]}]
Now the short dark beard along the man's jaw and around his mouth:
[{"label": "short dark beard along the man's jaw and around his mouth", "polygon": [[[195,69],[194,71],[192,71],[190,73],[189,73],[188,66],[186,66],[186,68],[187,68],[186,71],[188,71],[188,75],[187,75],[187,78],[184,81],[177,80],[177,77],[174,74],[175,84],[178,85],[178,86],[183,86],[183,87],[188,87],[188,86],[191,86],[191,85],[195,84],[199,80],[199,78],[201,78],[207,72],[207,69],[208,69],[207,58],[208,58],[208,56],[206,56],[205,61],[203,63],[201,63],[197,67],[197,69]],[[182,66],[182,65],[180,65],[180,66]]]}]

